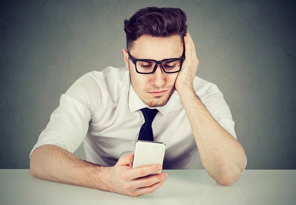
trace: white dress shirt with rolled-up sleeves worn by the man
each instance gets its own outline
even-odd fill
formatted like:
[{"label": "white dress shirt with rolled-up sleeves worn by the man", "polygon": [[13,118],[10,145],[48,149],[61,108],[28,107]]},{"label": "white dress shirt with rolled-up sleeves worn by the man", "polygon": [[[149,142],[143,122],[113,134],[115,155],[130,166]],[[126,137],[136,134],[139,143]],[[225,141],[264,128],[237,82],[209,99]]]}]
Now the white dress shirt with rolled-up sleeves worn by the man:
[{"label": "white dress shirt with rolled-up sleeves worn by the man", "polygon": [[[199,77],[194,90],[214,119],[235,139],[234,122],[218,87]],[[113,166],[134,152],[148,107],[135,93],[126,68],[86,73],[61,95],[60,105],[39,135],[37,147],[57,145],[73,153],[83,142],[85,160]],[[175,91],[152,123],[154,141],[166,144],[163,169],[187,169],[198,152],[183,104]]]}]

